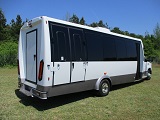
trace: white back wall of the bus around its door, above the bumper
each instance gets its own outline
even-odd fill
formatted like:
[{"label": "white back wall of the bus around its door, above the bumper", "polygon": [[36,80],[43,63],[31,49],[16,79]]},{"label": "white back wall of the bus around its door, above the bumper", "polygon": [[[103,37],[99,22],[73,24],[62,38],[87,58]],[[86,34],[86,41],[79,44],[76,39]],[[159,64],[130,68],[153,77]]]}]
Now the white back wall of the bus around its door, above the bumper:
[{"label": "white back wall of the bus around its door, above the bumper", "polygon": [[[29,27],[27,24],[25,24],[21,28],[18,47],[18,59],[20,67],[19,78],[21,78],[22,83],[25,83],[25,80],[34,82],[36,85],[40,83],[40,81],[37,79],[39,62],[41,58],[44,58],[42,26],[43,24],[41,20],[38,19],[38,21],[34,22],[33,27]],[[37,54],[36,51],[38,51]]]}]

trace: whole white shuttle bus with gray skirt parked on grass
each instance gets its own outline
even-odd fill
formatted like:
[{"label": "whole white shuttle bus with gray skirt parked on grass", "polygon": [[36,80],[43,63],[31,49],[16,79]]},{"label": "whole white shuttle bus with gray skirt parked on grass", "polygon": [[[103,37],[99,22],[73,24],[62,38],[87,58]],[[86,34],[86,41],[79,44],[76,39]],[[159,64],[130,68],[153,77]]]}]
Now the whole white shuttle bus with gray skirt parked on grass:
[{"label": "whole white shuttle bus with gray skirt parked on grass", "polygon": [[[20,30],[20,92],[41,99],[96,90],[108,95],[112,85],[148,76],[140,39],[46,16]],[[150,74],[149,74],[150,75]]]}]

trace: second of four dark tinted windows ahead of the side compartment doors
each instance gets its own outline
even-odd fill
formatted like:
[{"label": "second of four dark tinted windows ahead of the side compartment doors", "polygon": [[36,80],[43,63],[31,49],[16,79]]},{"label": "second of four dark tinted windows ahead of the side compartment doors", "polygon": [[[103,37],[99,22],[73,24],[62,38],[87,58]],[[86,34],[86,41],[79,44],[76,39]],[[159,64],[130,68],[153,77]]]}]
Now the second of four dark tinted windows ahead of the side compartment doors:
[{"label": "second of four dark tinted windows ahead of the side compartment doors", "polygon": [[116,60],[115,40],[112,36],[105,35],[103,37],[103,59],[104,61]]}]

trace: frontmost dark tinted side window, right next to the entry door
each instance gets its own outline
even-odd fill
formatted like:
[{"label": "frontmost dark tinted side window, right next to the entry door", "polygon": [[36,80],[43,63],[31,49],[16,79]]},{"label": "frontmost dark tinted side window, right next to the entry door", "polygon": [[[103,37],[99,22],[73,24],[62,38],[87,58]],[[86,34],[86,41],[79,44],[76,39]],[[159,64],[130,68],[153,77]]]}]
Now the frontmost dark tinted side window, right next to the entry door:
[{"label": "frontmost dark tinted side window, right next to the entry door", "polygon": [[128,60],[136,61],[137,60],[136,43],[132,40],[126,40],[126,48],[127,48]]}]

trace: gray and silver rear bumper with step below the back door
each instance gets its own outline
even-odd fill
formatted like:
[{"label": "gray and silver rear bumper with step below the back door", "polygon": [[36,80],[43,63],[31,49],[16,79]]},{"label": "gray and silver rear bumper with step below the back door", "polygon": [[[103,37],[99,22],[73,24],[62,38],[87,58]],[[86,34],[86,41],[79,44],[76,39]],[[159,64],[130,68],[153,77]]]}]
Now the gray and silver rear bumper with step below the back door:
[{"label": "gray and silver rear bumper with step below the back door", "polygon": [[35,88],[32,88],[23,83],[19,83],[20,92],[25,94],[26,96],[38,97],[40,99],[47,99],[47,92],[38,91]]}]

